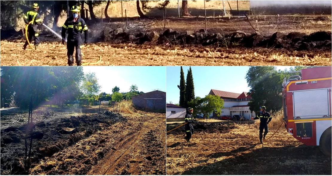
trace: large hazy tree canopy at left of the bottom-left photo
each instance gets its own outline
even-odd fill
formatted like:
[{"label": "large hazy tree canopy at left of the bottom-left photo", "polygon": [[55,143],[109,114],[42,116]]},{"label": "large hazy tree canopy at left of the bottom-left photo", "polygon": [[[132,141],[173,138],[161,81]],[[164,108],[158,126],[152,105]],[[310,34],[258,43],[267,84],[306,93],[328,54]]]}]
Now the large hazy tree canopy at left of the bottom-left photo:
[{"label": "large hazy tree canopy at left of the bottom-left photo", "polygon": [[82,74],[82,67],[1,67],[1,99],[12,97],[23,108],[31,97],[34,107],[48,100],[75,100]]}]

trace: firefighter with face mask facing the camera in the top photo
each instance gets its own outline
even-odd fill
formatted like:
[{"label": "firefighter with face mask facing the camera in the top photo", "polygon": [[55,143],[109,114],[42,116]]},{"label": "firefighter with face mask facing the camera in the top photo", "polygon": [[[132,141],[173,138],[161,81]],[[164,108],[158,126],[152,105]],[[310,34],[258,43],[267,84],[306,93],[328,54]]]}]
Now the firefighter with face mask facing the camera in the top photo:
[{"label": "firefighter with face mask facing the camera in the top photo", "polygon": [[61,36],[62,44],[66,43],[66,31],[68,31],[67,36],[67,57],[68,65],[73,66],[74,64],[74,49],[76,49],[75,59],[77,66],[81,66],[82,63],[82,38],[81,33],[84,32],[84,44],[88,42],[88,26],[85,21],[79,17],[80,8],[79,6],[73,6],[71,8],[72,16],[69,17],[62,26]]}]

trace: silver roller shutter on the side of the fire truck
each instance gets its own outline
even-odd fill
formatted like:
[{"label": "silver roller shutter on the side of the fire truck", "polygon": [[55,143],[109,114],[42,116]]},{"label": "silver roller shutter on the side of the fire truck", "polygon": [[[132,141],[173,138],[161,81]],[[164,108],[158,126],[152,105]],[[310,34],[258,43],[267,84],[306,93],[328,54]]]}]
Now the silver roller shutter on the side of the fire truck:
[{"label": "silver roller shutter on the side of the fire truck", "polygon": [[322,118],[329,115],[328,89],[293,92],[294,118]]}]

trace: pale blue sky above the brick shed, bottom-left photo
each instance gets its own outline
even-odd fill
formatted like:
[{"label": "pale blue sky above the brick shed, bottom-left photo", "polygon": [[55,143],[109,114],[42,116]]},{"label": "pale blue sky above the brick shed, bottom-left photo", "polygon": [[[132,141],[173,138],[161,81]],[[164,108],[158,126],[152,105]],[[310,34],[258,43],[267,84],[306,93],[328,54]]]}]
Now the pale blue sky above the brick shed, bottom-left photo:
[{"label": "pale blue sky above the brick shed, bottom-left photo", "polygon": [[83,66],[84,73],[89,71],[96,73],[100,93],[112,94],[115,86],[120,92],[128,92],[131,85],[144,93],[166,91],[166,66]]}]

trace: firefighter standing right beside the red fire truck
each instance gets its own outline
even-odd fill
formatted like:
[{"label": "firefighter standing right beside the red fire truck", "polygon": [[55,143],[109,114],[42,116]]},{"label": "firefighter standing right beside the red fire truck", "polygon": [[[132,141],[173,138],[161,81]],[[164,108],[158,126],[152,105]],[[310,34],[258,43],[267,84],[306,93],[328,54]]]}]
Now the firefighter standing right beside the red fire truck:
[{"label": "firefighter standing right beside the red fire truck", "polygon": [[[257,116],[253,119],[260,119],[261,123],[259,124],[259,141],[263,144],[262,138],[265,139],[266,134],[269,132],[268,124],[272,120],[271,115],[269,112],[266,112],[265,106],[260,107],[261,111],[257,114]],[[264,135],[263,135],[264,129]]]}]

